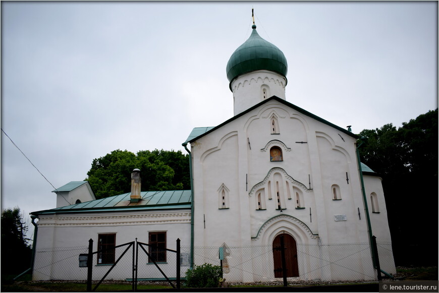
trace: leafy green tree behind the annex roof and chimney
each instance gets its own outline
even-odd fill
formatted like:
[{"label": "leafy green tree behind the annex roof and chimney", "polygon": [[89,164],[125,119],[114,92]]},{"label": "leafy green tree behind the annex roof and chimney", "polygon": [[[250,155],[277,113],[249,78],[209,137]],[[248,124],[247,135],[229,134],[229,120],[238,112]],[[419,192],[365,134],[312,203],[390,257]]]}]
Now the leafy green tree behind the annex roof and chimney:
[{"label": "leafy green tree behind the annex roof and chimney", "polygon": [[190,189],[189,156],[181,151],[115,150],[96,158],[87,172],[96,196],[103,198],[131,191],[131,172],[140,169],[142,191]]}]

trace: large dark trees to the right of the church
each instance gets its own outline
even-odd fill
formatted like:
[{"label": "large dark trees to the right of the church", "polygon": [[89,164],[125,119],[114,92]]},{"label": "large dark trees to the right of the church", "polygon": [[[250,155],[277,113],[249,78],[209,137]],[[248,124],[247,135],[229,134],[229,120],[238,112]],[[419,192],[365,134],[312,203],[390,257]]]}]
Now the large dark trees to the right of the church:
[{"label": "large dark trees to the right of the church", "polygon": [[359,134],[361,161],[382,177],[397,265],[437,265],[437,120],[435,109]]}]

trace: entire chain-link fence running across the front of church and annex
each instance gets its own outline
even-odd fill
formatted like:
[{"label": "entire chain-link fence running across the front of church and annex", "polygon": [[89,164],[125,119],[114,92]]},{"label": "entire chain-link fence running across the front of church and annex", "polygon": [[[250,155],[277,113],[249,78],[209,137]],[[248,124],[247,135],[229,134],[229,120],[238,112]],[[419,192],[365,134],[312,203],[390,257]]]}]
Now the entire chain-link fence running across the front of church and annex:
[{"label": "entire chain-link fence running across the front of church and annex", "polygon": [[[117,261],[128,246],[115,249]],[[224,246],[223,272],[229,282],[275,281],[275,258],[273,247],[267,246]],[[391,243],[377,243],[380,267],[393,274],[395,263]],[[135,257],[131,246],[117,265],[105,277],[106,280],[131,280]],[[148,249],[145,247],[145,250]],[[35,254],[34,280],[86,280],[87,268],[79,267],[79,255],[86,254],[88,247],[64,247],[38,249]],[[190,267],[190,247],[181,247],[180,276],[184,277]],[[111,268],[102,263],[99,254],[93,254],[93,280],[100,280]],[[114,263],[113,261],[113,263]],[[287,260],[289,261],[289,260]],[[219,265],[219,247],[194,247],[194,264],[210,263]],[[164,261],[157,262],[160,270],[140,247],[137,254],[138,280],[164,280],[160,270],[169,279],[176,279],[177,254],[167,251]],[[371,248],[369,243],[355,244],[297,244],[297,266],[299,276],[290,280],[374,280]]]}]

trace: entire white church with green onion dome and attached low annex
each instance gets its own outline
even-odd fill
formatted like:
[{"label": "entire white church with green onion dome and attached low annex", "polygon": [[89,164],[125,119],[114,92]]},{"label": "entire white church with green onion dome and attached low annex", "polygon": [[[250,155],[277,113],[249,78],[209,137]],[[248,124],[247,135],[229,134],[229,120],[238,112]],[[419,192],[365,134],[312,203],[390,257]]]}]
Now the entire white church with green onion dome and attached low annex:
[{"label": "entire white church with green onion dome and attached low annex", "polygon": [[[131,193],[96,200],[88,182],[55,190],[57,208],[32,213],[34,280],[85,279],[78,255],[90,239],[93,251],[155,245],[149,253],[169,277],[175,256],[160,248],[175,250],[180,239],[182,276],[193,265],[219,265],[221,248],[229,282],[282,278],[281,236],[289,278],[373,280],[376,255],[382,274],[396,273],[381,179],[360,163],[359,137],[286,101],[286,58],[252,28],[227,64],[234,117],[194,128],[183,143],[192,190],[140,192],[137,169]],[[122,252],[95,254],[93,279]],[[107,278],[130,279],[127,263]],[[149,257],[137,272],[162,277]]]}]

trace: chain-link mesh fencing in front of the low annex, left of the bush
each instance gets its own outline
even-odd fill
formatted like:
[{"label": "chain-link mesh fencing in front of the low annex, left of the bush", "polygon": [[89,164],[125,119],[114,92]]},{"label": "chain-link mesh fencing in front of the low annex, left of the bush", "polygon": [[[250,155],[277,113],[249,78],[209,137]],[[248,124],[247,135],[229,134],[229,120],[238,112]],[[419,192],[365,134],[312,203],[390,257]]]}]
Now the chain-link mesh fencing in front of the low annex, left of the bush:
[{"label": "chain-link mesh fencing in front of the low annex, left of the bush", "polygon": [[[148,247],[144,246],[149,253]],[[177,254],[172,251],[166,251],[164,260],[154,262],[147,256],[141,246],[138,248],[138,255],[133,255],[136,251],[136,245],[124,245],[116,247],[114,256],[93,253],[92,257],[92,280],[101,280],[117,262],[115,267],[108,273],[105,280],[129,280],[133,279],[133,265],[137,261],[137,279],[138,280],[166,280],[162,272],[170,279],[177,278]],[[35,263],[33,270],[33,280],[86,280],[87,267],[79,267],[79,255],[87,254],[88,247],[64,247],[64,248],[46,248],[37,249],[35,253]],[[120,258],[120,259],[119,259]],[[119,260],[119,261],[118,261]],[[107,263],[105,263],[107,262]],[[185,267],[187,266],[187,267]],[[180,276],[183,277],[189,268],[189,263],[181,265]],[[135,272],[135,271],[134,271]]]}]

